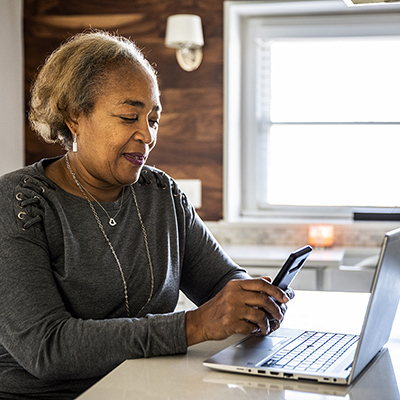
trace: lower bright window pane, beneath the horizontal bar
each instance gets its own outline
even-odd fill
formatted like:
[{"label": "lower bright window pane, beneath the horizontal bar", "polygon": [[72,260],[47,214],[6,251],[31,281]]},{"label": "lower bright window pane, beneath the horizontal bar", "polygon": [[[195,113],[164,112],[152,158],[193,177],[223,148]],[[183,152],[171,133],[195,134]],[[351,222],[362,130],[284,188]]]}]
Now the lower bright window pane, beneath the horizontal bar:
[{"label": "lower bright window pane, beneath the horizontal bar", "polygon": [[271,205],[399,206],[399,149],[397,125],[272,126],[265,200]]}]

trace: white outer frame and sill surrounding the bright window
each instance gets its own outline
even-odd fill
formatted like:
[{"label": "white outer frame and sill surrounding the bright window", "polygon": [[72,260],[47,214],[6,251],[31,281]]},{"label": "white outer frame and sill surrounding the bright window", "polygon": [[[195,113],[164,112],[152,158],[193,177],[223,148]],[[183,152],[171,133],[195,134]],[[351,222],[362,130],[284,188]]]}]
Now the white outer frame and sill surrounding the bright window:
[{"label": "white outer frame and sill surrounding the bright window", "polygon": [[[244,139],[253,141],[250,146],[256,146],[255,136],[243,133],[245,132],[246,109],[254,107],[254,102],[249,101],[242,77],[244,73],[248,73],[242,49],[246,33],[245,21],[250,17],[305,13],[312,15],[321,12],[347,13],[355,16],[379,12],[382,15],[389,15],[388,18],[393,14],[400,17],[398,5],[348,8],[342,0],[225,1],[224,3],[224,220],[228,222],[254,218],[257,220],[279,218],[290,221],[296,219],[349,221],[352,218],[352,210],[343,207],[278,207],[272,211],[260,211],[254,204],[249,204],[251,198],[246,198],[244,193],[243,176],[246,176],[248,185],[257,187],[256,175],[248,173],[249,168],[254,168],[254,165],[250,167],[250,163],[246,160],[248,155],[242,153],[241,146]],[[399,35],[399,25],[388,26],[390,31],[388,34]],[[246,107],[242,102],[246,104]],[[244,203],[247,203],[247,212],[243,211]]]}]

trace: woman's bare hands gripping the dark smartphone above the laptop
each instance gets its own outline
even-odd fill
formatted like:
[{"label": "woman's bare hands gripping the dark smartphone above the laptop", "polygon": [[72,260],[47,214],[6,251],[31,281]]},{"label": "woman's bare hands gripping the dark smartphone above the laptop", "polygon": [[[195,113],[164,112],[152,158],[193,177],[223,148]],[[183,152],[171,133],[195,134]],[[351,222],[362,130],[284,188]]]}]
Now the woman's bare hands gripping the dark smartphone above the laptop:
[{"label": "woman's bare hands gripping the dark smartphone above the laptop", "polygon": [[279,328],[286,303],[293,297],[291,289],[285,293],[269,277],[232,280],[210,301],[186,313],[187,344],[221,340],[234,333],[267,335]]}]

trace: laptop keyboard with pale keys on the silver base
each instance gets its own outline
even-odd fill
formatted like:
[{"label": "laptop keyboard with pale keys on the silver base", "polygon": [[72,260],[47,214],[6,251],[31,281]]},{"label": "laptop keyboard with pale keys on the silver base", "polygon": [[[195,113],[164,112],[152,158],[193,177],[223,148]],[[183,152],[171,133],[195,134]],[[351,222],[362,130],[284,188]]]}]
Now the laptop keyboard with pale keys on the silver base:
[{"label": "laptop keyboard with pale keys on the silver base", "polygon": [[304,332],[262,366],[325,372],[358,339],[357,335]]}]

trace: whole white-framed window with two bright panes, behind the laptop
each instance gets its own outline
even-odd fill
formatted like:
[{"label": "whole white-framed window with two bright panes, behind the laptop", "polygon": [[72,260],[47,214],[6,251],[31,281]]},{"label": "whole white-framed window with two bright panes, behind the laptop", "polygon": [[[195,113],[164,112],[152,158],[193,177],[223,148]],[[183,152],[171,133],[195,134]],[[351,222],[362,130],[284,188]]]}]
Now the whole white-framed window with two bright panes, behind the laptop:
[{"label": "whole white-framed window with two bright panes, behind the laptop", "polygon": [[225,11],[228,219],[398,206],[400,8],[228,2]]}]

